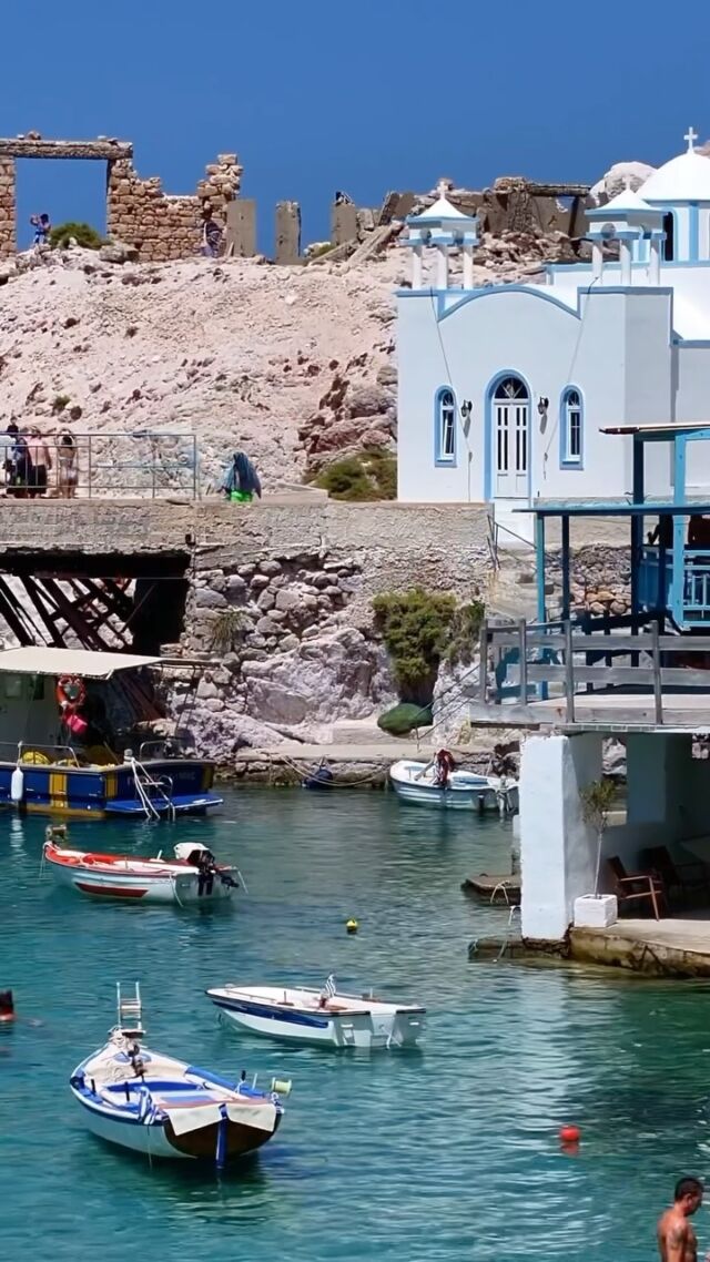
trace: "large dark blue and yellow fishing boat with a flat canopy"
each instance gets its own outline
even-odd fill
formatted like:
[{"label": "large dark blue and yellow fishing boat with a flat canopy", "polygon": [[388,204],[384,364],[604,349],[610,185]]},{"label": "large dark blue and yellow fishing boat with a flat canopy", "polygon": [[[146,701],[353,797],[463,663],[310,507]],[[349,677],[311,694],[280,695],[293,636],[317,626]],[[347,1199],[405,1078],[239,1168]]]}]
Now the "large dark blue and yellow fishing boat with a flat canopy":
[{"label": "large dark blue and yellow fishing boat with a flat canopy", "polygon": [[[29,645],[0,651],[0,804],[64,817],[174,819],[222,801],[215,765],[167,741],[114,747],[111,694],[144,719],[160,658]],[[104,716],[97,722],[96,716]],[[100,734],[100,732],[105,734]]]}]

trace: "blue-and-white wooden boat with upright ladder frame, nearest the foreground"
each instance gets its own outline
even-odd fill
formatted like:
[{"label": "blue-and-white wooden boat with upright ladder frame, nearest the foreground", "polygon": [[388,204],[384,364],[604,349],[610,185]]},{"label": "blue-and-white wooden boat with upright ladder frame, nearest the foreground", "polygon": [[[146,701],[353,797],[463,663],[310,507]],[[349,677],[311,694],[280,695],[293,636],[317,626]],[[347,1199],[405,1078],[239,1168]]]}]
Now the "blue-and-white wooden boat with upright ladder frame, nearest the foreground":
[{"label": "blue-and-white wooden boat with upright ladder frame, nearest the foreground", "polygon": [[[258,1090],[152,1051],[143,1044],[140,991],[121,1000],[109,1042],[82,1060],[69,1085],[86,1126],[102,1140],[154,1157],[192,1159],[221,1169],[275,1135],[291,1083]],[[244,1075],[243,1075],[244,1076]]]}]

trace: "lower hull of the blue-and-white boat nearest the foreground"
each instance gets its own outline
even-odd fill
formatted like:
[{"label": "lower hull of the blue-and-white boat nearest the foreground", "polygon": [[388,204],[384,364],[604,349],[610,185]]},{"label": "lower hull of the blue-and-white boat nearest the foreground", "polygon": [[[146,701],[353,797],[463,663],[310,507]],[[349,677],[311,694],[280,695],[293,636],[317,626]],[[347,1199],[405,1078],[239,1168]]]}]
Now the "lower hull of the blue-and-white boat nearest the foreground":
[{"label": "lower hull of the blue-and-white boat nearest the foreground", "polygon": [[[163,1159],[169,1161],[206,1161],[214,1162],[217,1151],[219,1126],[203,1126],[198,1131],[188,1135],[176,1135],[169,1122],[126,1122],[123,1118],[110,1118],[90,1108],[75,1092],[75,1097],[82,1106],[83,1121],[87,1129],[106,1143],[112,1143],[119,1148],[129,1148],[140,1152],[143,1156]],[[245,1157],[250,1152],[256,1152],[268,1143],[278,1131],[280,1114],[277,1113],[273,1131],[256,1131],[249,1126],[240,1126],[238,1122],[229,1122],[226,1131],[226,1160]]]}]

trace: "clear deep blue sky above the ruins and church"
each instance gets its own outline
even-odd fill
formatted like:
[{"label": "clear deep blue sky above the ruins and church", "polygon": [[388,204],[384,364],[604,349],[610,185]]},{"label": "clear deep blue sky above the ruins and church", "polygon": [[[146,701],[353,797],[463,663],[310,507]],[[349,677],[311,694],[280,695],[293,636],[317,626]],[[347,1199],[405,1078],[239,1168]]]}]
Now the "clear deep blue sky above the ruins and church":
[{"label": "clear deep blue sky above the ruins and church", "polygon": [[[301,202],[308,241],[327,236],[336,188],[378,204],[440,175],[595,179],[673,156],[689,124],[709,138],[710,6],[589,8],[1,0],[0,133],[130,139],[139,173],[171,193],[236,151],[265,250],[283,198]],[[104,226],[104,182],[102,164],[21,163],[23,244],[35,209]]]}]

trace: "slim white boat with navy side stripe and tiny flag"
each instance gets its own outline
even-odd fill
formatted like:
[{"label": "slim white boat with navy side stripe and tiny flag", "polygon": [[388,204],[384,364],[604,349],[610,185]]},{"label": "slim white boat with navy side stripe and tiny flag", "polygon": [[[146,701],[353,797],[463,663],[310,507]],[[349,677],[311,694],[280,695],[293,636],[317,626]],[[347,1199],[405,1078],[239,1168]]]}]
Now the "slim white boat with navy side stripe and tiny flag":
[{"label": "slim white boat with navy side stripe and tiny flag", "polygon": [[288,986],[222,986],[206,992],[226,1021],[253,1034],[328,1047],[414,1047],[426,1010],[345,994],[328,977],[320,991]]}]

